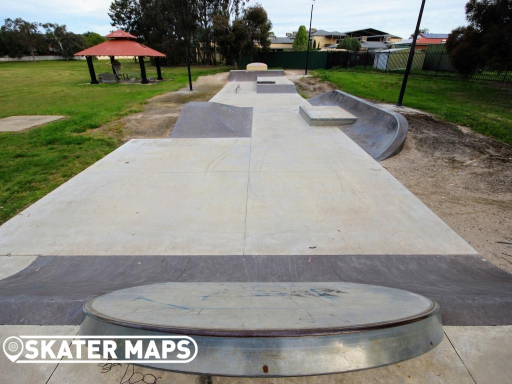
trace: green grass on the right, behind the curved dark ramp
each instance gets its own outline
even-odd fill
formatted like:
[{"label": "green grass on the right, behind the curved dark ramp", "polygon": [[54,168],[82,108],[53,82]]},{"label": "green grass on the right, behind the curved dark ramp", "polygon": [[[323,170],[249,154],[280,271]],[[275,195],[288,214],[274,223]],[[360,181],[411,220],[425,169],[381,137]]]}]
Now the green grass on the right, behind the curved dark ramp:
[{"label": "green grass on the right, behind the curved dark ramp", "polygon": [[[396,103],[402,75],[318,70],[313,74],[353,95]],[[403,105],[512,144],[512,87],[485,81],[409,77]]]}]

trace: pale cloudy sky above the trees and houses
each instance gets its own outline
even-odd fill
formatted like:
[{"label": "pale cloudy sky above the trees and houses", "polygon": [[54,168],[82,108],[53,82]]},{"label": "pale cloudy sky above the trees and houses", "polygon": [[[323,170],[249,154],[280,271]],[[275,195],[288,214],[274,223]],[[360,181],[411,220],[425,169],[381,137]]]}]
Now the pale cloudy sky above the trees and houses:
[{"label": "pale cloudy sky above the trees and houses", "polygon": [[[449,33],[465,25],[467,0],[426,0],[422,28]],[[257,0],[250,0],[249,4]],[[309,24],[311,0],[258,0],[267,10],[278,36]],[[112,30],[107,14],[110,0],[0,0],[0,17],[22,17],[30,22],[66,24],[83,33],[107,34]],[[408,38],[414,31],[421,0],[315,0],[313,24],[317,29],[346,32],[375,28]]]}]

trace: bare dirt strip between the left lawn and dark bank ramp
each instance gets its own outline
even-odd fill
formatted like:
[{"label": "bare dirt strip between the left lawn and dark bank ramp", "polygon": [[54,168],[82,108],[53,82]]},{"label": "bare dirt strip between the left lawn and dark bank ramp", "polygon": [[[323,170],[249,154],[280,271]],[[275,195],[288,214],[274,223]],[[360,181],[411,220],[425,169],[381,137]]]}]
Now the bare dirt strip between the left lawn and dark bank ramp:
[{"label": "bare dirt strip between the left lawn and dark bank ramp", "polygon": [[130,139],[168,138],[178,120],[183,105],[190,101],[208,101],[219,92],[228,80],[227,73],[201,76],[193,82],[193,92],[188,86],[176,92],[155,96],[143,105],[143,110],[104,124],[88,134],[115,137],[120,144]]}]

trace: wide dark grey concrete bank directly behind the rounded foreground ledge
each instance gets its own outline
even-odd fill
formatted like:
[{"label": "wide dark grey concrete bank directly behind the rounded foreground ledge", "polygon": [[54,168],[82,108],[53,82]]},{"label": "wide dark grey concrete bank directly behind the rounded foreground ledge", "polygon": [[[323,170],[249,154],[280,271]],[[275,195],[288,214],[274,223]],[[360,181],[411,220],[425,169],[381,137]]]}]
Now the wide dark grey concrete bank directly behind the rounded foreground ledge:
[{"label": "wide dark grey concrete bank directly behind the rounded foreground ledge", "polygon": [[40,256],[0,280],[0,324],[80,324],[88,298],[169,281],[382,285],[432,298],[444,325],[512,318],[512,275],[475,255]]}]

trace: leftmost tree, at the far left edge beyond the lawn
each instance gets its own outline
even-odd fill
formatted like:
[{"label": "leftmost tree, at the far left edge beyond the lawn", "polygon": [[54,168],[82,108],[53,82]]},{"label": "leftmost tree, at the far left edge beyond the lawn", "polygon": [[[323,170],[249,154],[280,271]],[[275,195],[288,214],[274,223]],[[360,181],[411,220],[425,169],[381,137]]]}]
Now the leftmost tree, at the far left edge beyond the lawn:
[{"label": "leftmost tree, at the far left edge beyond the lawn", "polygon": [[20,17],[14,20],[6,18],[0,32],[7,54],[11,57],[30,54],[35,61],[35,52],[41,42],[37,28],[37,23],[26,22]]}]

